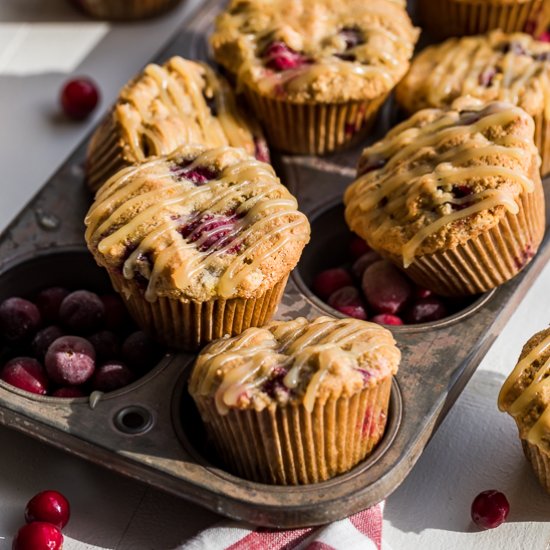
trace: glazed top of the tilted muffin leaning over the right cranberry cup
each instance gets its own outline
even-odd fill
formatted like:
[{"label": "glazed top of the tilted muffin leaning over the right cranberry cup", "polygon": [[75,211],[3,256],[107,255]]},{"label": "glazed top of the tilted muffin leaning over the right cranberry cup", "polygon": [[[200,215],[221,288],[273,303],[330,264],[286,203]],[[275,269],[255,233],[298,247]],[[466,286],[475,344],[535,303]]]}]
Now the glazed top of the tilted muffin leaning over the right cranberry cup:
[{"label": "glazed top of the tilted muffin leaning over the right cranberry cup", "polygon": [[346,222],[404,267],[464,244],[541,185],[533,132],[533,119],[507,103],[463,98],[418,111],[363,151],[344,194]]}]

